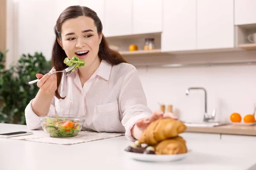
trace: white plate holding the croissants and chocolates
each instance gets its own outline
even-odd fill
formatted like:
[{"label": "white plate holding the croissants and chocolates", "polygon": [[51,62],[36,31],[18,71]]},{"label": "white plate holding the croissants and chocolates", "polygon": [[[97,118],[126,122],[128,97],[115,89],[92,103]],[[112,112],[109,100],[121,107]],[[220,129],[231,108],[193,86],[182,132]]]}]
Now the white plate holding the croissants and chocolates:
[{"label": "white plate holding the croissants and chocolates", "polygon": [[123,151],[123,153],[131,159],[138,161],[178,161],[184,159],[191,153],[191,150],[188,150],[187,153],[175,154],[175,155],[154,155],[154,154],[145,154],[145,153],[133,153]]}]

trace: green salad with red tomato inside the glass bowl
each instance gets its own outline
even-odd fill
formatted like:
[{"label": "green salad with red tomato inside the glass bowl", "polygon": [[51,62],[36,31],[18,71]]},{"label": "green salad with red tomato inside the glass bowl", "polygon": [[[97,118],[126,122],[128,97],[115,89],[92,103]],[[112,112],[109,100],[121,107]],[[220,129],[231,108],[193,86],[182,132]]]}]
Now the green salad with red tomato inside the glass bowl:
[{"label": "green salad with red tomato inside the glass bowl", "polygon": [[58,118],[55,120],[47,118],[44,120],[43,128],[51,137],[73,137],[81,130],[78,121]]}]

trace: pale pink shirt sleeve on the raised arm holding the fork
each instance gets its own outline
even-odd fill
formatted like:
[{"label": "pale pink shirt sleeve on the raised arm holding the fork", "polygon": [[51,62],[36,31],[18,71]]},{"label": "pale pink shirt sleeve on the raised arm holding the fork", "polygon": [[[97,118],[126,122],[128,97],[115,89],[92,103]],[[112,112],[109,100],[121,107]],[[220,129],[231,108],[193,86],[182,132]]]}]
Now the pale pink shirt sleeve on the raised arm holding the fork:
[{"label": "pale pink shirt sleeve on the raised arm holding the fork", "polygon": [[[32,110],[32,101],[33,100],[34,99],[32,99],[25,108],[26,125],[27,125],[29,130],[42,129],[42,126],[41,126],[41,123],[40,123],[40,117],[37,116]],[[49,112],[47,113],[47,115],[49,113],[56,114],[55,97],[52,98],[50,109],[49,109]]]}]

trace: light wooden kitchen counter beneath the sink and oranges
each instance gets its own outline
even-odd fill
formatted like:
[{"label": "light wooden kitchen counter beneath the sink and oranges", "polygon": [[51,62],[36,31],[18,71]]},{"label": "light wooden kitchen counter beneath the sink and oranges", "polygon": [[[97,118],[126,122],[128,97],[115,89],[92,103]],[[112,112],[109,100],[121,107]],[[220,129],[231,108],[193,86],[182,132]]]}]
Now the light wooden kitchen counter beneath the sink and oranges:
[{"label": "light wooden kitchen counter beneath the sink and oranges", "polygon": [[253,126],[221,125],[216,127],[187,127],[186,132],[220,133],[220,134],[256,136],[256,125],[253,125]]}]

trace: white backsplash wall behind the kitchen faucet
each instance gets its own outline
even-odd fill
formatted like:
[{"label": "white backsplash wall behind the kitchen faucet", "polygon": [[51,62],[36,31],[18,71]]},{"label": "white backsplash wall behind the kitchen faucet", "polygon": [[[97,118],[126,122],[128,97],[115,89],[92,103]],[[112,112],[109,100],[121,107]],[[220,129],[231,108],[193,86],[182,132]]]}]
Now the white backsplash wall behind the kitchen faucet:
[{"label": "white backsplash wall behind the kitchen faucet", "polygon": [[159,109],[157,102],[172,104],[176,116],[184,121],[202,121],[204,93],[185,90],[204,87],[208,112],[217,109],[216,119],[229,120],[233,112],[241,116],[253,112],[256,103],[256,65],[211,66],[200,68],[138,68],[148,106]]}]

